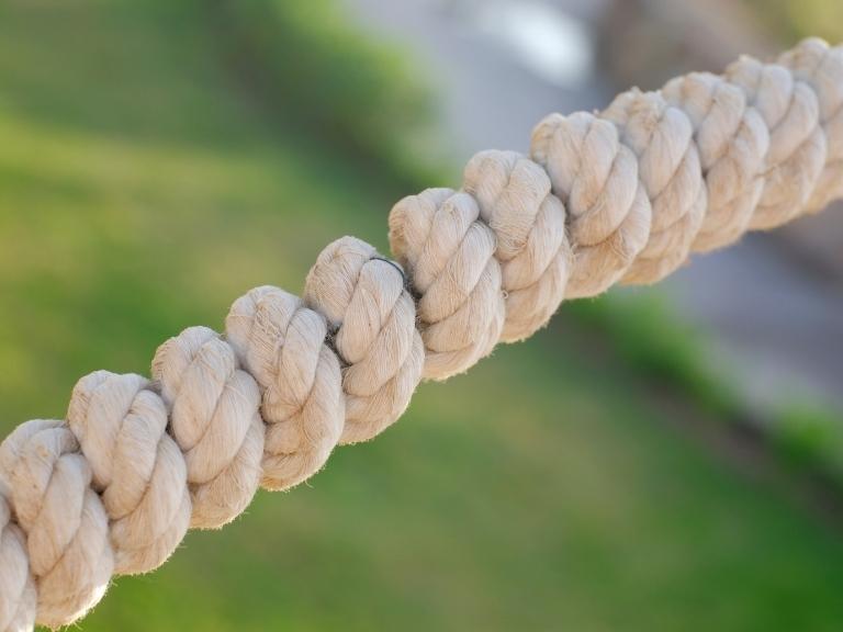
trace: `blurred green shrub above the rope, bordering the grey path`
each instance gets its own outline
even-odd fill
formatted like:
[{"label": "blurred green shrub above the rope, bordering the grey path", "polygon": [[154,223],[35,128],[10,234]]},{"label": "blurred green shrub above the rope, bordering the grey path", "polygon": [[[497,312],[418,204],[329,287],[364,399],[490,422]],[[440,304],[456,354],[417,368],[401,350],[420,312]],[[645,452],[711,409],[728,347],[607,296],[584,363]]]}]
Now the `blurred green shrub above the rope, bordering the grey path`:
[{"label": "blurred green shrub above the rope, bordering the grey path", "polygon": [[432,101],[404,50],[361,32],[335,0],[213,5],[241,80],[278,116],[394,173],[418,168],[407,149],[428,136]]}]

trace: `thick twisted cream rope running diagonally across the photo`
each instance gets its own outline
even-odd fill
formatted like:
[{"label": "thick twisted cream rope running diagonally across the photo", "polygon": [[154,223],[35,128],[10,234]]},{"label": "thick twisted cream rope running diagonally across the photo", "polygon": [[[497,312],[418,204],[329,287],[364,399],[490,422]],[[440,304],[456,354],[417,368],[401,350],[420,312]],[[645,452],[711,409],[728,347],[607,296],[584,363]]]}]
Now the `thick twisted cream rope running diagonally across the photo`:
[{"label": "thick twisted cream rope running diagonally across the photo", "polygon": [[843,47],[808,40],[551,114],[530,151],[483,151],[461,190],[400,201],[400,264],[344,237],[303,300],[251,290],[224,337],[165,342],[151,381],[97,371],[65,421],[19,426],[0,445],[0,630],[76,621],[112,575],[153,571],[259,486],[312,476],[395,421],[420,380],[529,337],[563,298],[654,283],[843,196]]}]

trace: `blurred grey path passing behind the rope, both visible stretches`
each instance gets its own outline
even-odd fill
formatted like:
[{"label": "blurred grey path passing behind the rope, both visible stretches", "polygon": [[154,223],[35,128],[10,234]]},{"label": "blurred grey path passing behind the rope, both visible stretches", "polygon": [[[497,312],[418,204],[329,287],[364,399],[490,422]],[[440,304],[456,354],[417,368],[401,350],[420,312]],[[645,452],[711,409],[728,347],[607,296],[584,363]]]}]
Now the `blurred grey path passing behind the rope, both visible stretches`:
[{"label": "blurred grey path passing behind the rope, both visible stretches", "polygon": [[[600,109],[617,91],[591,40],[603,1],[345,1],[427,69],[457,165],[480,149],[525,151],[546,114]],[[643,291],[664,293],[708,334],[718,365],[762,410],[793,397],[843,408],[843,283],[775,240],[750,236]]]}]

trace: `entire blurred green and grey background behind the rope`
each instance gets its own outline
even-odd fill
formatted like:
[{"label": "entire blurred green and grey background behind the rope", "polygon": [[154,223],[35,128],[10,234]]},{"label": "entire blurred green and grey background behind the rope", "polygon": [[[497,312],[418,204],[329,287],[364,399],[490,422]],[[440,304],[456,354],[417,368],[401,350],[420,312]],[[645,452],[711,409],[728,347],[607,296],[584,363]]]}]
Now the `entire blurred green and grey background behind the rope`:
[{"label": "entire blurred green and grey background behind the rope", "polygon": [[[401,196],[836,0],[5,0],[0,435]],[[843,210],[563,305],[81,630],[840,630]],[[502,388],[501,384],[507,384]]]}]

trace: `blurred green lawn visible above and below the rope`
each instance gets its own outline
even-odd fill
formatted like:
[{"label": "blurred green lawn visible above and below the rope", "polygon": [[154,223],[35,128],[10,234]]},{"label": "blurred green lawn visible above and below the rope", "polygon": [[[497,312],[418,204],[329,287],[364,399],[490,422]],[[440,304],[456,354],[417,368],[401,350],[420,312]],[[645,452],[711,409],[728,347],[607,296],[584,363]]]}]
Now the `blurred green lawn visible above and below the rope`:
[{"label": "blurred green lawn visible above and below the rope", "polygon": [[[256,284],[300,291],[339,235],[385,248],[394,180],[240,90],[210,12],[0,4],[2,433],[63,416],[86,372],[146,373]],[[81,629],[839,630],[840,534],[576,335],[423,386],[310,485],[119,578]]]}]

